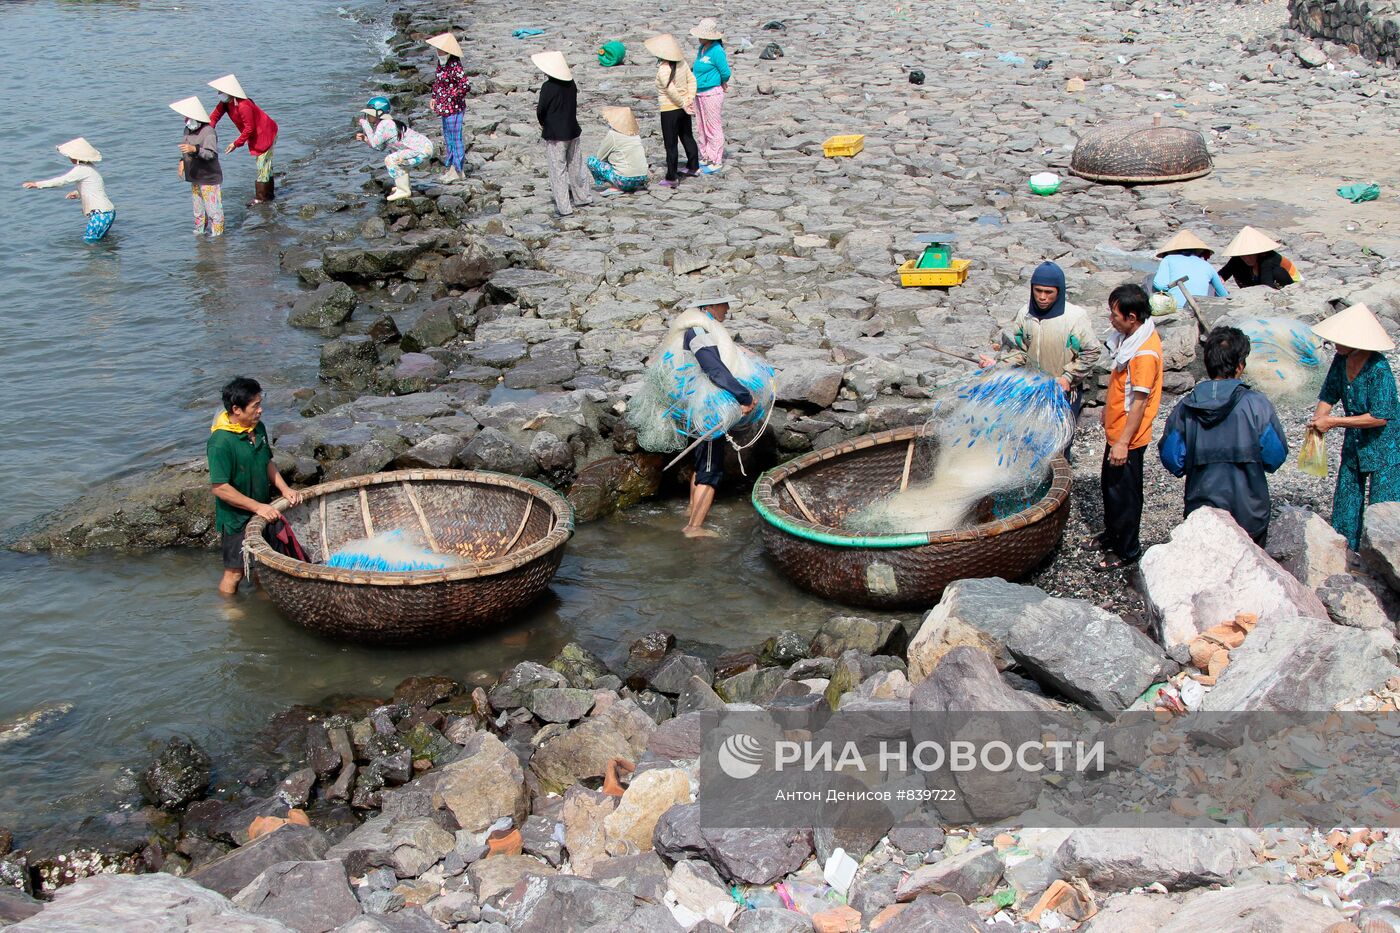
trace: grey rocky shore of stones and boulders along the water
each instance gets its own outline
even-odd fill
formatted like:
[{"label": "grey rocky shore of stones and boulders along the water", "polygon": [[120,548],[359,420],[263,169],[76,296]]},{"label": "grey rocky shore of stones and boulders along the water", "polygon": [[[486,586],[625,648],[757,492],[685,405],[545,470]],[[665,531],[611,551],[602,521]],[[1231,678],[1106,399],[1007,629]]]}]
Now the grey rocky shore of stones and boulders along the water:
[{"label": "grey rocky shore of stones and boulders along the water", "polygon": [[[396,14],[396,57],[375,90],[424,130],[437,120],[421,36],[472,38],[470,171],[452,185],[423,172],[396,205],[382,203],[382,168],[335,203],[281,202],[325,219],[322,242],[283,255],[302,283],[288,322],[325,336],[318,384],[269,399],[293,482],[498,469],[567,490],[581,520],[655,495],[661,459],[637,448],[622,412],[669,314],[715,283],[743,301],[736,336],[780,371],[749,476],[921,422],[937,387],[966,368],[925,343],[987,349],[1042,259],[1065,268],[1071,300],[1099,310],[1183,223],[1219,245],[1263,213],[1306,276],[1210,301],[1212,317],[1316,319],[1366,301],[1400,324],[1400,237],[1387,228],[1400,179],[1372,175],[1392,168],[1369,161],[1336,178],[1392,178],[1369,205],[1337,199],[1330,177],[1257,191],[1257,174],[1322,165],[1310,147],[1364,148],[1400,123],[1394,73],[1288,31],[1282,4],[1071,3],[1032,21],[994,3],[743,1],[725,8],[736,92],[724,174],[556,219],[528,53],[568,53],[585,148],[602,132],[588,115],[624,102],[655,160],[652,69],[636,50],[654,31],[683,34],[692,13],[636,15],[654,21],[630,21],[629,63],[602,70],[592,50],[619,34],[596,24],[616,15],[587,1]],[[522,27],[549,32],[511,38]],[[783,57],[759,59],[769,42]],[[924,85],[907,83],[913,67]],[[1030,174],[1067,174],[1082,130],[1159,109],[1207,134],[1215,177],[1026,191]],[[865,151],[823,160],[820,141],[843,132],[865,132]],[[932,228],[958,234],[972,279],[946,293],[900,289],[893,269]],[[1166,322],[1163,343],[1168,385],[1184,391],[1198,377],[1194,326]],[[1294,441],[1303,410],[1288,412]],[[1112,713],[1151,707],[1144,695],[1161,684],[1194,698],[1187,709],[1394,709],[1397,510],[1375,509],[1362,553],[1348,553],[1316,514],[1327,483],[1289,465],[1275,476],[1264,552],[1218,513],[1182,523],[1179,483],[1149,466],[1144,537],[1156,546],[1131,577],[1093,574],[1079,545],[1099,521],[1096,430],[1091,410],[1065,544],[1030,586],[960,581],[923,618],[833,616],[815,639],[773,633],[718,658],[655,632],[617,670],[571,644],[490,685],[412,678],[392,696],[329,698],[277,717],[262,737],[267,766],[238,778],[175,740],[144,772],[144,801],[91,820],[91,842],[11,850],[0,832],[0,926],[1400,930],[1400,836],[1389,829],[1252,832],[1201,813],[1172,832],[930,818],[837,839],[700,825],[701,724],[721,710]],[[94,490],[13,544],[210,538],[203,462],[192,461]],[[1196,664],[1194,636],[1238,612],[1259,625],[1229,667]],[[1184,686],[1200,678],[1212,682]],[[860,866],[843,891],[822,876],[837,845]],[[776,884],[818,901],[785,909]]]}]

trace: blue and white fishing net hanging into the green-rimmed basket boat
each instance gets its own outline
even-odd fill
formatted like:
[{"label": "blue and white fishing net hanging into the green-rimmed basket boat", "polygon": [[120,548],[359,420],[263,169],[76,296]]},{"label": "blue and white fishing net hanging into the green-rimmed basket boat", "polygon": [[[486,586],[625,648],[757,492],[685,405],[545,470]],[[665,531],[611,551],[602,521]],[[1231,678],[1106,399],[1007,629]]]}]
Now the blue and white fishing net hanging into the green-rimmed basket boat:
[{"label": "blue and white fishing net hanging into the green-rimmed basket boat", "polygon": [[1050,375],[1028,368],[987,370],[938,401],[925,437],[930,479],[895,492],[843,523],[853,531],[951,531],[1016,511],[1044,488],[1050,465],[1074,434],[1070,402]]}]

